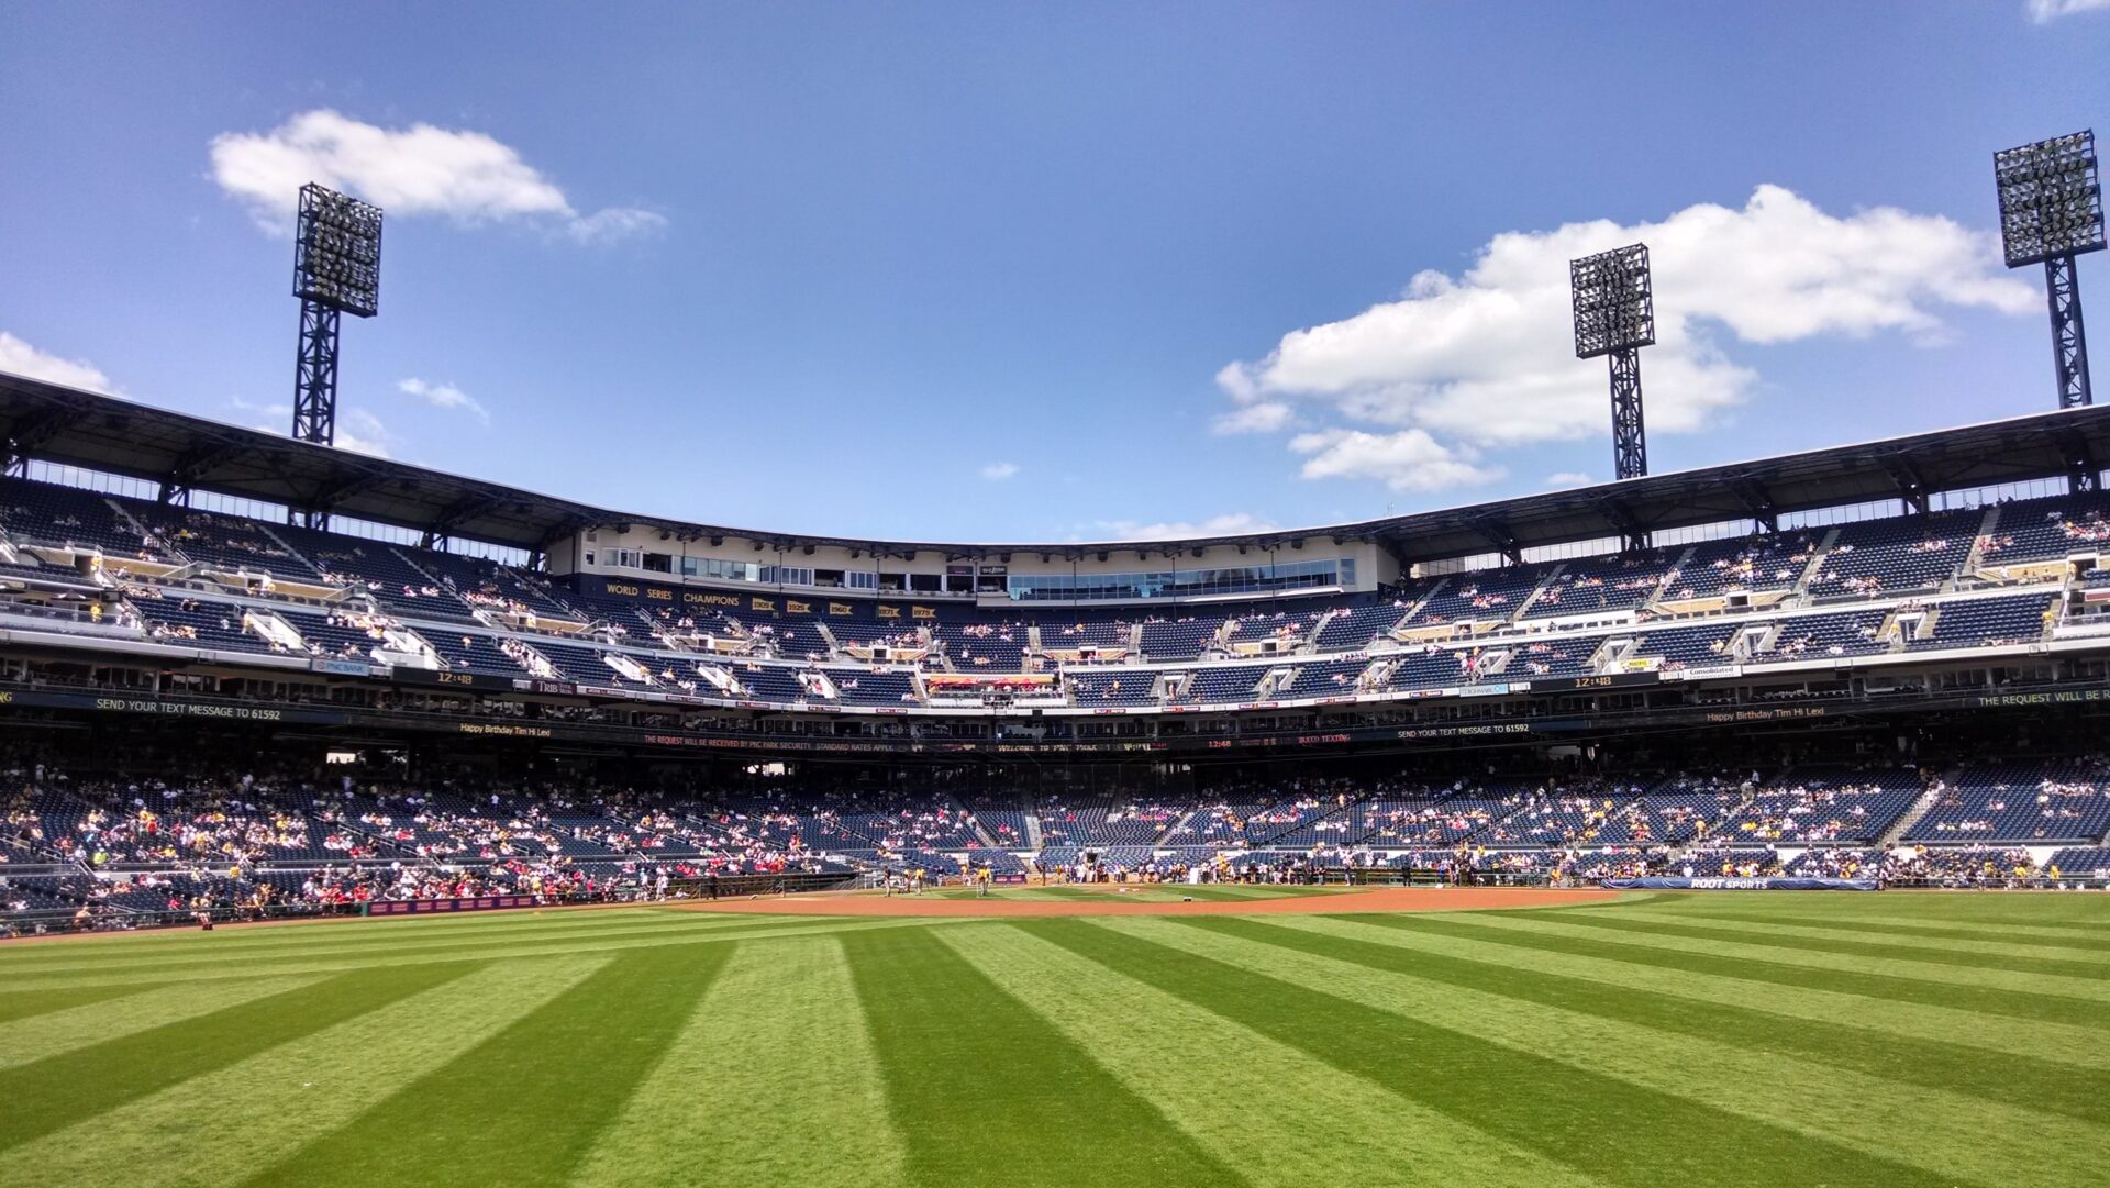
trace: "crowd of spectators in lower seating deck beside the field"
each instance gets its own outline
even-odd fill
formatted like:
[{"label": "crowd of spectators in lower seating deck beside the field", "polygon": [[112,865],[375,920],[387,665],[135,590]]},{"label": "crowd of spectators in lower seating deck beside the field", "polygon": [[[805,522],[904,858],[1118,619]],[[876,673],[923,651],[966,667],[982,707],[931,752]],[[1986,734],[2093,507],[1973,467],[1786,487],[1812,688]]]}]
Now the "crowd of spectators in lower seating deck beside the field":
[{"label": "crowd of spectators in lower seating deck beside the field", "polygon": [[[171,770],[179,764],[171,764]],[[1960,768],[1971,770],[1971,768]],[[2053,804],[2099,798],[2099,764],[2009,764]],[[1800,774],[1798,774],[1800,772]],[[2087,878],[1971,817],[1888,842],[1901,804],[1939,810],[1950,772],[1789,768],[1614,781],[1234,779],[1184,793],[1002,793],[762,781],[736,793],[591,779],[192,770],[171,779],[0,774],[0,914],[122,924],[496,893],[650,895],[663,878],[926,869],[1038,859],[1074,882],[1298,882],[1405,867],[1456,882],[1878,878],[1998,886]],[[1998,812],[2002,806],[1990,806]],[[1929,827],[1933,829],[1933,825]],[[1948,842],[1948,833],[1960,833]],[[2102,844],[2099,829],[2070,842]],[[2093,869],[2093,867],[2091,867]]]}]

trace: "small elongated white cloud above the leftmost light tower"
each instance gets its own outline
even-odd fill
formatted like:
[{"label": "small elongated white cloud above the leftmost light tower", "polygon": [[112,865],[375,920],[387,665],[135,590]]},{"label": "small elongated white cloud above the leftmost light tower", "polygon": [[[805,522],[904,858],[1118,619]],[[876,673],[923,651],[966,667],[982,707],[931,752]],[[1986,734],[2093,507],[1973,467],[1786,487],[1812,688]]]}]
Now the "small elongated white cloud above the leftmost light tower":
[{"label": "small elongated white cloud above the leftmost light tower", "polygon": [[667,219],[629,207],[580,213],[519,150],[475,131],[382,129],[329,110],[302,112],[268,133],[213,137],[213,181],[272,232],[289,232],[300,188],[321,181],[388,215],[445,215],[464,224],[540,222],[580,243],[650,234]]}]

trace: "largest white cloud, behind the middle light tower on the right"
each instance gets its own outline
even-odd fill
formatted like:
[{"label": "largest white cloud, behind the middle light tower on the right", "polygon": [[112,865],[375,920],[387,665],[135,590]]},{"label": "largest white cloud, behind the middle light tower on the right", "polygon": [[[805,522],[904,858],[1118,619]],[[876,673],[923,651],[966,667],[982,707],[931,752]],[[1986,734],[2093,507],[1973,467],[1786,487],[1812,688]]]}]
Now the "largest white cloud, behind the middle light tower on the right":
[{"label": "largest white cloud, behind the middle light tower on the right", "polygon": [[[1758,371],[1726,342],[1903,333],[1939,342],[1950,308],[2030,312],[1990,232],[1891,207],[1829,215],[1779,186],[1741,209],[1663,222],[1570,224],[1494,236],[1460,276],[1422,272],[1397,302],[1298,329],[1217,373],[1226,424],[1317,422],[1289,441],[1304,477],[1395,490],[1485,481],[1481,454],[1610,435],[1606,363],[1574,357],[1568,262],[1648,243],[1656,346],[1644,352],[1648,428],[1694,433],[1745,399]],[[1270,403],[1285,411],[1253,414]]]}]

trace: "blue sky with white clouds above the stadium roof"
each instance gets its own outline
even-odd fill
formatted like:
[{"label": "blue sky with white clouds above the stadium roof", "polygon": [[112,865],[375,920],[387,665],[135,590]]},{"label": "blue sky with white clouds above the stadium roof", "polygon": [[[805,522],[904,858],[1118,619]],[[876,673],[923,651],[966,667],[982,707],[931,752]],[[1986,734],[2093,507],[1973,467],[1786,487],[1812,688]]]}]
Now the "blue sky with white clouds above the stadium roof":
[{"label": "blue sky with white clouds above the stadium roof", "polygon": [[1654,471],[2049,407],[1990,156],[2110,114],[2076,0],[333,13],[0,8],[0,361],[283,430],[327,171],[354,445],[876,536],[1604,479],[1561,262],[1631,238]]}]

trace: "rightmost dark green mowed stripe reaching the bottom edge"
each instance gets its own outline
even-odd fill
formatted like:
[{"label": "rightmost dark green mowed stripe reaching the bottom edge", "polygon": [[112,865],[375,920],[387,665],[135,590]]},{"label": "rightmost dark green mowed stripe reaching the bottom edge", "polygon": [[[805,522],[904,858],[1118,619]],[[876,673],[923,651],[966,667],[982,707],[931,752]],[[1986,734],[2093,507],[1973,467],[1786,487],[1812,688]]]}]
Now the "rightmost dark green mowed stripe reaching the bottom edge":
[{"label": "rightmost dark green mowed stripe reaching the bottom edge", "polygon": [[[1390,975],[1369,975],[1393,981],[1374,1000],[1350,1000],[1203,956],[1188,937],[1245,950],[1245,958],[1262,966],[1293,964],[1266,945],[1179,922],[1019,926],[1608,1184],[1743,1188],[1802,1182],[1812,1167],[1825,1169],[1831,1188],[1956,1184],[1954,1175],[1431,1023],[1420,1015],[1424,1002]],[[1338,979],[1342,988],[1359,981],[1350,966],[1340,969],[1346,971]],[[1437,1171],[1433,1182],[1441,1180]]]}]

